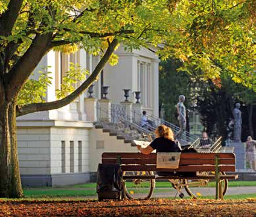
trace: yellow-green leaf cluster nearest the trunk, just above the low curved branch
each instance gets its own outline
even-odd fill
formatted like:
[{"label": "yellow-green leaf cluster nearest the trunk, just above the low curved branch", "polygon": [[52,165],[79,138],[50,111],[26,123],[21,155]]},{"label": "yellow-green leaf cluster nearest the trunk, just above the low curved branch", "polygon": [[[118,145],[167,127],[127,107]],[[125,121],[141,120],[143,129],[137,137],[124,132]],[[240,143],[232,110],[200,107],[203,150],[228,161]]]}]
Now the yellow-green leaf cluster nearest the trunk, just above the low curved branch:
[{"label": "yellow-green leaf cluster nearest the trunk, just above the low curved branch", "polygon": [[18,104],[24,105],[34,102],[45,102],[47,86],[51,85],[51,71],[48,68],[43,68],[43,71],[38,71],[38,79],[28,79],[22,91],[18,95]]}]

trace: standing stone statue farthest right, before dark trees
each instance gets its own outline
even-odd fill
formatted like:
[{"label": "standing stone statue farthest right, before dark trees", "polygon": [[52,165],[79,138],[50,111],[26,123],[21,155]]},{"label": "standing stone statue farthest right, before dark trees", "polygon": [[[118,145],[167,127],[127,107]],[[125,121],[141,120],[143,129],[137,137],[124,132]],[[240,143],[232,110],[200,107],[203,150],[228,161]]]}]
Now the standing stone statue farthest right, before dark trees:
[{"label": "standing stone statue farthest right, before dark trees", "polygon": [[233,110],[234,116],[234,142],[241,142],[242,131],[242,113],[240,111],[240,103],[236,103]]}]

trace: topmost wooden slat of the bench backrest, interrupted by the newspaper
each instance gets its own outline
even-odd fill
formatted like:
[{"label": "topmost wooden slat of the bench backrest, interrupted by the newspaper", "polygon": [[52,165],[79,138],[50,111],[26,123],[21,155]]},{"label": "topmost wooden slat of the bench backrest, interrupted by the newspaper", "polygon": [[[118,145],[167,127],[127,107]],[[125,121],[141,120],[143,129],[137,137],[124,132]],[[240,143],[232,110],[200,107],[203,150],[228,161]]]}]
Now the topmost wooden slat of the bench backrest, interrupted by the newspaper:
[{"label": "topmost wooden slat of the bench backrest, interrupted by the newspaper", "polygon": [[[143,153],[118,153],[118,152],[104,152],[101,155],[101,158],[115,158],[120,155],[123,159],[125,158],[140,158],[140,159],[155,159],[157,158],[156,153],[150,153],[149,155],[143,155]],[[218,155],[220,158],[234,158],[234,153],[182,153],[180,155],[181,159],[214,159],[215,155]]]}]

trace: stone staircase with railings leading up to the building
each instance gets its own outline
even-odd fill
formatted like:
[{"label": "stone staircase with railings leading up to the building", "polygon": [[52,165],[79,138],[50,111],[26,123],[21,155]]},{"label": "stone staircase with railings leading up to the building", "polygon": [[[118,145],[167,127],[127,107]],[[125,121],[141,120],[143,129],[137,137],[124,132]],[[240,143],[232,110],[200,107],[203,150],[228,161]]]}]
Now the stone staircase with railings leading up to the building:
[{"label": "stone staircase with railings leading up to the building", "polygon": [[[172,123],[147,115],[147,118],[153,123],[147,128],[140,126],[141,113],[132,111],[132,116],[126,114],[126,107],[121,104],[111,104],[111,108],[97,107],[98,115],[97,122],[94,123],[95,128],[101,128],[103,132],[109,133],[109,136],[116,136],[118,140],[124,140],[127,144],[132,144],[132,140],[149,141],[150,137],[155,137],[155,128],[158,125],[166,125],[170,127],[174,134],[180,129]],[[197,136],[184,132],[182,138],[178,140],[181,146],[188,146],[199,141]],[[134,146],[134,144],[132,144]]]}]

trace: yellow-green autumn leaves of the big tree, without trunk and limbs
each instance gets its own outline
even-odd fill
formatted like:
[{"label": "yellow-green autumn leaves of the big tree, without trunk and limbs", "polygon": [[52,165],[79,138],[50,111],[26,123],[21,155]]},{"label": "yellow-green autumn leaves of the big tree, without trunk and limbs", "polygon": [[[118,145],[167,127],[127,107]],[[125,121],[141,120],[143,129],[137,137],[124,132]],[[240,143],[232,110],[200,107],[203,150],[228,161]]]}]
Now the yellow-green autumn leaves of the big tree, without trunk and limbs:
[{"label": "yellow-green autumn leaves of the big tree, without trunk and limbs", "polygon": [[[0,0],[0,16],[8,3]],[[219,85],[225,74],[232,81],[256,90],[253,3],[253,0],[24,0],[11,35],[0,35],[0,52],[9,50],[12,43],[15,48],[4,70],[7,73],[18,64],[36,35],[52,33],[52,43],[63,43],[54,45],[55,50],[68,54],[85,49],[99,56],[116,37],[126,50],[163,45],[157,51],[161,58],[179,59],[183,62],[179,70],[192,77],[210,79]],[[115,54],[109,59],[111,65],[117,61]],[[197,71],[203,73],[198,75]],[[72,92],[74,83],[83,80],[72,73],[65,78],[58,97]],[[36,81],[26,83],[19,96],[21,104],[43,101],[43,94],[39,96],[28,90],[37,85]],[[26,100],[24,92],[32,100]]]}]

